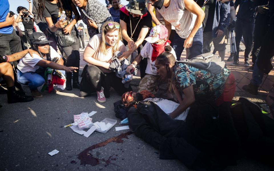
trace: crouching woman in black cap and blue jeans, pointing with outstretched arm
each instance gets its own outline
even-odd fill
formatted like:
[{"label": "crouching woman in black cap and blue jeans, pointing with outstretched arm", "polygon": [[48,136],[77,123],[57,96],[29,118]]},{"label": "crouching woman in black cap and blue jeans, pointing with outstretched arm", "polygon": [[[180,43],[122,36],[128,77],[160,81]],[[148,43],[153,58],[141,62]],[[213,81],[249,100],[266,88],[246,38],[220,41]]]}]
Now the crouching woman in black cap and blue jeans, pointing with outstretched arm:
[{"label": "crouching woman in black cap and blue jeans, pointing with outstretched arm", "polygon": [[[43,97],[37,87],[45,83],[45,68],[61,70],[63,74],[65,74],[65,72],[73,72],[78,68],[63,66],[63,59],[49,46],[49,43],[52,41],[47,40],[45,34],[34,32],[30,36],[30,41],[33,50],[37,51],[41,57],[33,54],[32,58],[30,54],[27,54],[21,58],[17,65],[17,81],[21,84],[28,85],[33,97]],[[58,58],[57,63],[51,62],[51,60],[56,57]]]}]

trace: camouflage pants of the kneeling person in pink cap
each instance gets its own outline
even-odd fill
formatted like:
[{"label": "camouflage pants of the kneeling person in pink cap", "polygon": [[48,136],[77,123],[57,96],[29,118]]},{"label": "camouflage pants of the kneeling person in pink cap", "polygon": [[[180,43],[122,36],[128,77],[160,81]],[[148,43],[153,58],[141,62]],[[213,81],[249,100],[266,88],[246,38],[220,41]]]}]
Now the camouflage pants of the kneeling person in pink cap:
[{"label": "camouflage pants of the kneeling person in pink cap", "polygon": [[160,84],[163,84],[160,76],[146,74],[144,78],[141,79],[137,92],[147,90],[147,91],[150,91],[152,94],[155,94],[157,93],[158,86]]}]

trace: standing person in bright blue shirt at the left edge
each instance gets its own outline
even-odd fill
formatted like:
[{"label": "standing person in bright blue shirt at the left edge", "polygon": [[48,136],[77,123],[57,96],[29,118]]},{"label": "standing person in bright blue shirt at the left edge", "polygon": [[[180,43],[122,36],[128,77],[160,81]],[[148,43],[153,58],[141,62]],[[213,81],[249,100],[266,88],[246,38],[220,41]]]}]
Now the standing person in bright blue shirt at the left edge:
[{"label": "standing person in bright blue shirt at the left edge", "polygon": [[[16,34],[12,25],[15,22],[13,13],[9,13],[9,1],[0,1],[0,55],[11,55],[22,51],[21,39]],[[10,62],[14,68],[17,68],[17,61]],[[16,80],[16,74],[14,74],[15,86],[23,91],[21,84]]]}]

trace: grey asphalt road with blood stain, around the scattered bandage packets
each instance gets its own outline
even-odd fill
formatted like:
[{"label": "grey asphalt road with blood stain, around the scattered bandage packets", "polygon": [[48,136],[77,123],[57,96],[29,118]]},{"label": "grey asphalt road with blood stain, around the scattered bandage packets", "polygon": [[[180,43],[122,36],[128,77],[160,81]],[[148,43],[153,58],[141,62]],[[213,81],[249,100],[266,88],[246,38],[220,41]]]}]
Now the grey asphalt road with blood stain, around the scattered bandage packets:
[{"label": "grey asphalt road with blood stain, around the scattered bandage packets", "polygon": [[[28,87],[24,89],[30,94]],[[114,115],[113,103],[120,97],[113,89],[106,103],[98,103],[96,94],[78,95],[78,89],[44,92],[42,98],[15,104],[7,104],[6,95],[0,95],[0,170],[188,170],[178,160],[160,160],[159,151],[130,130],[115,131],[120,119]],[[118,123],[107,133],[94,132],[88,138],[64,128],[73,122],[73,115],[91,111],[97,111],[93,122],[112,118]],[[50,156],[55,149],[59,153]],[[88,154],[79,159],[84,152]],[[225,170],[273,168],[244,158]]]}]

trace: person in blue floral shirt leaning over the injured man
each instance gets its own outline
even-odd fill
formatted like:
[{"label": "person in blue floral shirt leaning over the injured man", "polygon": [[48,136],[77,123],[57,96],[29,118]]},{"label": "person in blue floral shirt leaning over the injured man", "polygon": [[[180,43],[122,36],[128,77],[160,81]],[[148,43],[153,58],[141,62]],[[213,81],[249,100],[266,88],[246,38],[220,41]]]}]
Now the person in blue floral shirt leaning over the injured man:
[{"label": "person in blue floral shirt leaning over the injured man", "polygon": [[[186,110],[199,97],[215,101],[221,105],[225,101],[231,101],[235,92],[235,78],[227,68],[220,70],[218,74],[212,74],[208,70],[195,68],[174,59],[170,53],[170,46],[156,58],[156,68],[163,80],[171,79],[171,89],[180,102],[178,108],[170,114],[174,118]],[[184,99],[182,99],[184,94]]]}]

